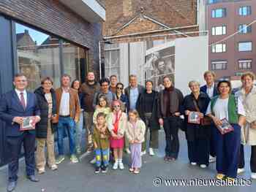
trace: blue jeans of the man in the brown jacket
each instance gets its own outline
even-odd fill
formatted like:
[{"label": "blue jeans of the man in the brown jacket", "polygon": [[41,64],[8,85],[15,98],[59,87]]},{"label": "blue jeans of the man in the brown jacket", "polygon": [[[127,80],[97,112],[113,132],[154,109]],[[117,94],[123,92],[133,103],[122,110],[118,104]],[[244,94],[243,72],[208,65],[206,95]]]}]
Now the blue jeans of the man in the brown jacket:
[{"label": "blue jeans of the man in the brown jacket", "polygon": [[75,120],[70,117],[64,118],[59,117],[58,123],[58,149],[59,155],[64,155],[64,131],[67,130],[67,135],[69,137],[69,151],[70,155],[75,154]]}]

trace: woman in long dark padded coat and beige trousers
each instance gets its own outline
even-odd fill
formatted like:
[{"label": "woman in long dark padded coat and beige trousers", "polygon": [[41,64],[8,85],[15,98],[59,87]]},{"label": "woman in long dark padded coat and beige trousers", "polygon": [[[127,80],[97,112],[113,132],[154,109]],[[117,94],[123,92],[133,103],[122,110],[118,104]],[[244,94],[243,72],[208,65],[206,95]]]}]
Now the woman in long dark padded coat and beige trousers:
[{"label": "woman in long dark padded coat and beige trousers", "polygon": [[39,174],[45,173],[45,145],[47,147],[48,166],[52,170],[58,169],[54,153],[54,132],[56,131],[56,93],[53,89],[53,80],[45,77],[41,86],[34,93],[37,96],[41,112],[41,120],[36,126],[37,137],[37,170]]}]

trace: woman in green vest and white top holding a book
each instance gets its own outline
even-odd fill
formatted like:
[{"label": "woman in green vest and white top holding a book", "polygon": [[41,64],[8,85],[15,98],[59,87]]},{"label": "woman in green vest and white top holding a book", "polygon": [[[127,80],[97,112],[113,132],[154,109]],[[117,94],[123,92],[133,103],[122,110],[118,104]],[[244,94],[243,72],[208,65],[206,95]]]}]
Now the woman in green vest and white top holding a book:
[{"label": "woman in green vest and white top holding a book", "polygon": [[219,96],[211,99],[206,111],[216,126],[214,131],[217,149],[216,177],[219,180],[224,178],[233,180],[237,176],[241,126],[245,122],[245,110],[241,99],[230,94],[229,81],[219,81],[217,88]]}]

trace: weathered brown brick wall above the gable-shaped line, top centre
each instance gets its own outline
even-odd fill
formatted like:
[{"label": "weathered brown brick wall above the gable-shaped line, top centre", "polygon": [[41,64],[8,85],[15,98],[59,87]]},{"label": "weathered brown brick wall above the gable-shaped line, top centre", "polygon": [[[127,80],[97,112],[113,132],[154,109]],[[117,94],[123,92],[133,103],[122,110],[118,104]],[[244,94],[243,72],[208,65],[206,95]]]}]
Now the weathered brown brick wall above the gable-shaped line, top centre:
[{"label": "weathered brown brick wall above the gable-shaped line, top centre", "polygon": [[[197,23],[196,0],[105,0],[105,7],[104,36],[115,34],[129,20],[140,14],[141,7],[143,15],[169,27],[192,26]],[[127,30],[126,33],[130,34],[132,31]]]}]

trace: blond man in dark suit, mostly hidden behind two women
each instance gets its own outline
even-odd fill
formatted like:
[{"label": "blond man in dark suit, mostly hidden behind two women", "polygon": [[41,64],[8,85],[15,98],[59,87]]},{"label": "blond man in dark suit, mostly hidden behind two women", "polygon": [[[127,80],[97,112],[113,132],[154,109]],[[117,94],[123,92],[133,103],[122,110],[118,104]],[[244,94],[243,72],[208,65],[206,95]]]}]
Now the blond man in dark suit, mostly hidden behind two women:
[{"label": "blond man in dark suit, mostly hidden behind two women", "polygon": [[[214,83],[215,73],[211,71],[206,71],[203,74],[203,77],[206,80],[206,85],[200,87],[200,91],[206,93],[210,97],[210,99],[212,99],[214,96],[218,95],[217,85],[215,85]],[[214,131],[216,131],[215,129],[215,126],[211,126],[211,135],[214,134]],[[216,161],[216,150],[214,145],[214,139],[213,137],[211,137],[209,162],[212,163],[214,161]]]}]

